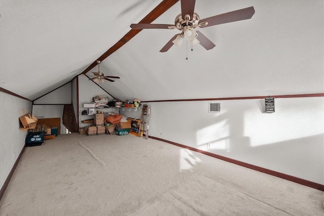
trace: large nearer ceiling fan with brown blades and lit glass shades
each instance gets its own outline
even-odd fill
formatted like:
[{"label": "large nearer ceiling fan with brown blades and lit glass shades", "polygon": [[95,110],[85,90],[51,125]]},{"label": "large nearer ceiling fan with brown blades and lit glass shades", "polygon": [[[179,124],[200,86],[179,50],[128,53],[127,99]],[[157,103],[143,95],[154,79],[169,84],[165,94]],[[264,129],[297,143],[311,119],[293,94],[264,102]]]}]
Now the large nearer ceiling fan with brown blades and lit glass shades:
[{"label": "large nearer ceiling fan with brown blades and lit glass shades", "polygon": [[160,52],[167,52],[174,44],[180,47],[183,39],[190,42],[191,51],[192,46],[196,44],[200,44],[206,50],[210,50],[216,45],[204,34],[196,31],[196,27],[199,26],[200,28],[205,28],[213,25],[250,19],[255,12],[253,7],[249,7],[200,20],[198,14],[194,12],[194,5],[195,0],[181,0],[181,13],[176,17],[174,25],[138,23],[131,24],[131,28],[179,29],[181,33],[174,35],[171,40],[169,40],[169,42],[160,50]]}]

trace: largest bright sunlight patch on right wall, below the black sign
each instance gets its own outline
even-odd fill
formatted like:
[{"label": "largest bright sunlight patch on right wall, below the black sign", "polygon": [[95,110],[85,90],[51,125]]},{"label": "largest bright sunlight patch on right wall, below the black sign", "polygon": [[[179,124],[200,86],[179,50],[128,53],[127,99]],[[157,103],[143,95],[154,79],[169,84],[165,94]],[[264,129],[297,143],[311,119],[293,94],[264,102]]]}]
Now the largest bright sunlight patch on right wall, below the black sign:
[{"label": "largest bright sunlight patch on right wall, below the black sign", "polygon": [[311,99],[303,99],[311,112],[307,111],[305,105],[300,108],[297,103],[300,99],[277,99],[276,106],[280,104],[281,107],[271,114],[247,111],[244,115],[244,136],[250,137],[251,146],[261,146],[322,134],[323,105]]}]

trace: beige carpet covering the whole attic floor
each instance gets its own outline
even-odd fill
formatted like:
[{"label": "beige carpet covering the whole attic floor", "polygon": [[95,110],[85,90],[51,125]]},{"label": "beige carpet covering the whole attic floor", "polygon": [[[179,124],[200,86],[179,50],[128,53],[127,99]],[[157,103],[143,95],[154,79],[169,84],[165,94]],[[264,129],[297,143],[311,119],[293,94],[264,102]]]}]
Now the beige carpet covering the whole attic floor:
[{"label": "beige carpet covering the whole attic floor", "polygon": [[27,147],[0,215],[320,215],[323,192],[133,135]]}]

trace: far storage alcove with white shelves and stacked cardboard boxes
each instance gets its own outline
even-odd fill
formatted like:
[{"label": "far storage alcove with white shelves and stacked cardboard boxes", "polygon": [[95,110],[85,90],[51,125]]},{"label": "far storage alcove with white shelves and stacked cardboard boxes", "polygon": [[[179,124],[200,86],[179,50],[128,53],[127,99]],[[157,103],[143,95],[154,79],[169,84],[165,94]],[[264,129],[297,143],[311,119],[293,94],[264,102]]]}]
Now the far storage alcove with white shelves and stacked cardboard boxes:
[{"label": "far storage alcove with white shelves and stacked cardboard boxes", "polygon": [[[79,134],[142,136],[143,132],[139,132],[143,109],[140,100],[123,102],[115,99],[82,75],[78,76],[77,82]],[[143,125],[142,129],[145,128]]]}]

